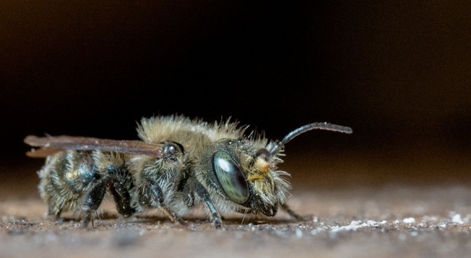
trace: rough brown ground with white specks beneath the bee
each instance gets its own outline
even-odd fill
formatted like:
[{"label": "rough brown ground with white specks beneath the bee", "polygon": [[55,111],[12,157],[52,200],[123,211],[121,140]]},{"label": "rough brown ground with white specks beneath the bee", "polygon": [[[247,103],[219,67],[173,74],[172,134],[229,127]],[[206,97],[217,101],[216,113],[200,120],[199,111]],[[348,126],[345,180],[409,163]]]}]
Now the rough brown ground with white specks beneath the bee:
[{"label": "rough brown ground with white specks beneath the bee", "polygon": [[[404,183],[406,173],[396,174],[396,182],[375,184],[384,176],[346,176],[344,164],[337,164],[317,164],[325,180],[318,176],[309,183],[303,169],[293,175],[288,204],[311,214],[310,219],[292,221],[284,212],[270,219],[224,214],[222,230],[198,211],[184,217],[187,226],[157,211],[122,219],[112,201],[103,205],[93,227],[81,228],[67,214],[53,221],[37,193],[38,164],[4,167],[16,176],[4,176],[0,183],[0,257],[470,257],[471,187],[466,181]],[[454,169],[467,171],[456,163]],[[360,183],[362,176],[367,183]]]}]

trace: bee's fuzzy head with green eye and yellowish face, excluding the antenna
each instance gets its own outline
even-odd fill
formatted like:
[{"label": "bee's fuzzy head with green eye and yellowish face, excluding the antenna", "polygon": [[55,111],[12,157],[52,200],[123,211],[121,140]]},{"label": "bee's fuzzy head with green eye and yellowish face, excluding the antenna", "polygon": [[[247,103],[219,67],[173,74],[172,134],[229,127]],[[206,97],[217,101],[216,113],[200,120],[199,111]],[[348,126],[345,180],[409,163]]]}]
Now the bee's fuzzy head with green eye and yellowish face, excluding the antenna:
[{"label": "bee's fuzzy head with green eye and yellowish face, excluding the antenna", "polygon": [[208,149],[198,171],[220,209],[243,207],[254,214],[276,215],[288,195],[289,174],[276,171],[278,157],[266,160],[257,155],[265,145],[266,141],[230,139]]}]

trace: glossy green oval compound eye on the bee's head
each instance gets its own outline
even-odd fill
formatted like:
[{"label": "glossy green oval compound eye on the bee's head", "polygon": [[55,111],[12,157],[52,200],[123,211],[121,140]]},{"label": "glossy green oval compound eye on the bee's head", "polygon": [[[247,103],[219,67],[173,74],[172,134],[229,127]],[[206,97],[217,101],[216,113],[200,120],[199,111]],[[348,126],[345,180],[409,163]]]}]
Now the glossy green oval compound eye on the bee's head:
[{"label": "glossy green oval compound eye on the bee's head", "polygon": [[250,195],[249,186],[231,155],[218,151],[214,154],[213,167],[228,198],[238,204],[247,202]]}]

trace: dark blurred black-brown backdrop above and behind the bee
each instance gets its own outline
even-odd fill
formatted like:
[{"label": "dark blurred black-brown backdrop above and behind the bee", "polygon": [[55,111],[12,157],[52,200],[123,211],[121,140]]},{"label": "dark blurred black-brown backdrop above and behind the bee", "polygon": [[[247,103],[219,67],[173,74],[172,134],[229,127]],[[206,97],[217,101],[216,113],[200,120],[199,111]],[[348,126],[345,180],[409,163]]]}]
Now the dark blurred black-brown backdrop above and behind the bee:
[{"label": "dark blurred black-brown backdrop above and behind the bee", "polygon": [[4,183],[37,180],[29,134],[136,139],[141,117],[176,113],[275,139],[310,122],[352,127],[286,146],[280,167],[299,188],[471,183],[466,1],[0,7]]}]

